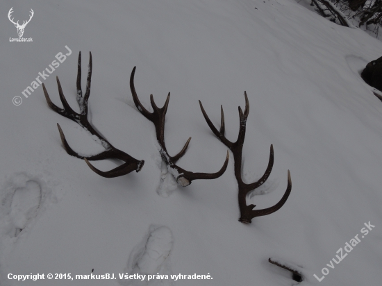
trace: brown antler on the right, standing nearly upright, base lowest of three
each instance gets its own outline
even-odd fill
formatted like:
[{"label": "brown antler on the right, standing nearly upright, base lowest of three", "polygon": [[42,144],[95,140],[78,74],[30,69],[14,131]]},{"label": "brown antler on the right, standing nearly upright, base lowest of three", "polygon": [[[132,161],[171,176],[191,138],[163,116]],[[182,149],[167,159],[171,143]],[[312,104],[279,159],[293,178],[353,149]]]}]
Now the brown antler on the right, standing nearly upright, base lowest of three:
[{"label": "brown antler on the right, standing nearly upright, base lowest of three", "polygon": [[290,194],[290,190],[292,190],[292,180],[290,180],[290,172],[288,170],[288,187],[285,191],[285,194],[279,201],[279,203],[276,203],[276,205],[265,208],[263,210],[254,210],[256,205],[247,205],[246,198],[247,194],[255,190],[257,187],[260,187],[260,185],[263,185],[265,183],[265,180],[269,177],[269,174],[271,174],[272,167],[273,167],[273,145],[271,145],[271,152],[269,155],[269,163],[268,167],[265,170],[264,175],[255,183],[246,184],[242,180],[242,174],[241,174],[241,167],[242,167],[242,146],[244,144],[244,138],[245,138],[245,128],[247,124],[247,117],[249,114],[249,101],[247,97],[247,92],[244,92],[245,96],[245,110],[244,113],[242,112],[242,109],[239,106],[239,116],[240,116],[240,131],[238,135],[238,140],[236,142],[231,142],[224,136],[225,133],[225,126],[224,126],[224,112],[223,112],[223,106],[221,106],[221,123],[220,123],[220,131],[217,131],[213,123],[208,118],[206,111],[204,111],[203,106],[201,105],[201,101],[199,101],[201,112],[204,115],[204,118],[207,121],[208,126],[210,126],[213,133],[217,136],[217,138],[223,142],[224,145],[229,147],[229,149],[233,153],[233,160],[235,161],[235,177],[238,181],[239,185],[239,208],[240,208],[240,219],[244,224],[251,224],[251,219],[254,217],[260,217],[262,215],[272,214],[272,212],[276,212],[276,210],[279,210],[285,201],[288,199],[288,196]]}]

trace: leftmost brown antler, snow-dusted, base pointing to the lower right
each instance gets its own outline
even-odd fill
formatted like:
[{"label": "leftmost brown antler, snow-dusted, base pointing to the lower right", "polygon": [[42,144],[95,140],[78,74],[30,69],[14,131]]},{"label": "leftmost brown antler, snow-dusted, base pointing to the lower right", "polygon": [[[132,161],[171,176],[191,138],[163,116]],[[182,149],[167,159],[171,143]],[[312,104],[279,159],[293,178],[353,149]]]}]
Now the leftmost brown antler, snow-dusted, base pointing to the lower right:
[{"label": "leftmost brown antler, snow-dusted, base pointing to the lower right", "polygon": [[[85,96],[83,96],[82,89],[81,89],[81,51],[80,51],[78,55],[78,72],[77,72],[77,102],[81,110],[80,113],[77,113],[74,110],[72,110],[72,108],[67,103],[65,96],[63,94],[63,89],[61,88],[61,85],[60,85],[60,81],[58,80],[58,77],[57,77],[58,94],[60,94],[60,99],[61,99],[61,102],[63,103],[64,108],[59,108],[58,106],[56,106],[54,103],[51,102],[47,89],[45,88],[44,83],[42,84],[42,88],[44,90],[45,99],[47,99],[48,106],[54,111],[56,111],[59,115],[63,115],[64,117],[67,117],[73,120],[74,122],[78,123],[85,130],[92,133],[92,135],[96,135],[101,141],[102,146],[106,149],[106,151],[103,151],[102,153],[88,156],[88,157],[78,155],[78,153],[73,151],[73,149],[69,146],[69,144],[67,144],[67,140],[65,139],[63,130],[61,129],[60,125],[57,124],[58,131],[60,132],[61,141],[63,142],[65,150],[67,151],[69,155],[85,160],[85,162],[88,164],[90,169],[92,169],[94,172],[96,172],[100,176],[103,176],[106,178],[114,178],[118,176],[123,176],[134,170],[137,172],[140,171],[140,169],[142,169],[144,165],[144,160],[138,161],[135,158],[131,157],[131,155],[128,155],[127,153],[124,153],[123,151],[115,148],[112,144],[110,144],[110,142],[108,142],[108,140],[106,140],[101,135],[99,135],[99,133],[94,130],[92,125],[90,125],[88,121],[88,99],[90,96],[91,79],[92,79],[92,53],[90,52],[88,81],[86,83]],[[88,161],[88,160],[103,160],[103,159],[119,159],[124,161],[125,163],[120,165],[119,167],[116,167],[115,169],[104,172],[93,167]]]}]

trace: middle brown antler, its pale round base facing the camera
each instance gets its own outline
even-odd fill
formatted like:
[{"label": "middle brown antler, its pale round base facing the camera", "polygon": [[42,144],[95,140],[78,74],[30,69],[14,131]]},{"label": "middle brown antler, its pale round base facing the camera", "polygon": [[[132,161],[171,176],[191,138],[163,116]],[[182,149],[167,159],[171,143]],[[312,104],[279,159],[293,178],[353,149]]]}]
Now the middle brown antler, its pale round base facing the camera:
[{"label": "middle brown antler, its pale round base facing the camera", "polygon": [[151,122],[153,122],[156,130],[156,139],[158,140],[159,146],[160,146],[160,155],[163,158],[163,161],[166,163],[167,167],[169,167],[169,170],[171,171],[172,175],[176,178],[176,182],[185,187],[190,185],[192,180],[211,180],[214,178],[219,178],[219,176],[222,176],[224,171],[226,171],[228,161],[229,161],[229,152],[227,150],[227,156],[226,161],[224,162],[224,165],[222,169],[220,169],[217,173],[213,174],[207,174],[207,173],[193,173],[191,171],[186,171],[185,169],[182,169],[181,167],[178,167],[176,165],[176,162],[182,158],[182,156],[185,154],[185,151],[187,150],[188,144],[190,143],[191,137],[188,138],[187,142],[185,142],[185,145],[183,149],[173,157],[167,153],[166,144],[165,144],[165,116],[167,112],[167,106],[169,105],[169,94],[167,95],[167,99],[165,102],[165,105],[163,108],[158,108],[156,106],[154,100],[153,100],[153,94],[150,95],[150,101],[151,106],[153,107],[153,112],[149,112],[144,106],[142,106],[142,103],[140,103],[140,100],[138,99],[137,92],[135,92],[134,87],[134,75],[135,75],[135,67],[133,68],[133,72],[131,72],[130,76],[130,89],[131,94],[133,95],[133,100],[135,103],[135,106],[137,106],[138,110],[142,113],[144,117],[149,119]]}]

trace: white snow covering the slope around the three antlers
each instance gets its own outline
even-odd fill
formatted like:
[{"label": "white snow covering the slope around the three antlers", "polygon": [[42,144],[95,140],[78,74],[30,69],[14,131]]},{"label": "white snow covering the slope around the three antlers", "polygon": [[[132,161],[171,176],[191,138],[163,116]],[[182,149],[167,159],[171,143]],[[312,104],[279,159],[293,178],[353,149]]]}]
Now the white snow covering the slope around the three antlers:
[{"label": "white snow covering the slope around the three antlers", "polygon": [[[296,285],[289,271],[267,261],[271,257],[299,266],[304,275],[299,285],[380,285],[382,103],[360,71],[381,57],[382,43],[300,4],[13,3],[15,21],[28,19],[33,9],[23,36],[33,42],[9,42],[17,29],[0,17],[0,285],[139,285],[119,278],[128,271],[213,278],[142,282],[150,286]],[[11,7],[0,3],[3,11]],[[56,123],[81,154],[95,154],[103,146],[50,110],[41,86],[28,98],[22,95],[58,53],[68,53],[65,46],[72,54],[42,80],[51,101],[62,107],[54,78],[59,76],[69,105],[79,112],[77,55],[82,51],[85,67],[92,51],[90,123],[117,149],[145,161],[139,173],[98,176],[66,153]],[[285,205],[241,224],[233,156],[215,180],[195,180],[188,187],[177,187],[172,176],[163,180],[168,170],[154,126],[131,107],[128,78],[135,65],[135,89],[145,108],[149,94],[163,106],[172,92],[165,142],[174,155],[192,136],[177,162],[185,170],[215,171],[226,153],[198,100],[215,126],[224,106],[226,137],[235,141],[246,91],[251,109],[242,153],[245,182],[262,176],[274,146],[272,174],[247,203],[258,210],[274,205],[285,192],[290,169],[293,187]],[[85,83],[83,68],[83,90]],[[20,106],[11,103],[15,96],[21,96]],[[121,162],[92,164],[106,171]],[[369,221],[375,228],[362,244],[319,282],[313,275],[321,277],[336,251]],[[44,274],[45,279],[17,281],[8,274]],[[53,281],[47,274],[118,278]]]}]

